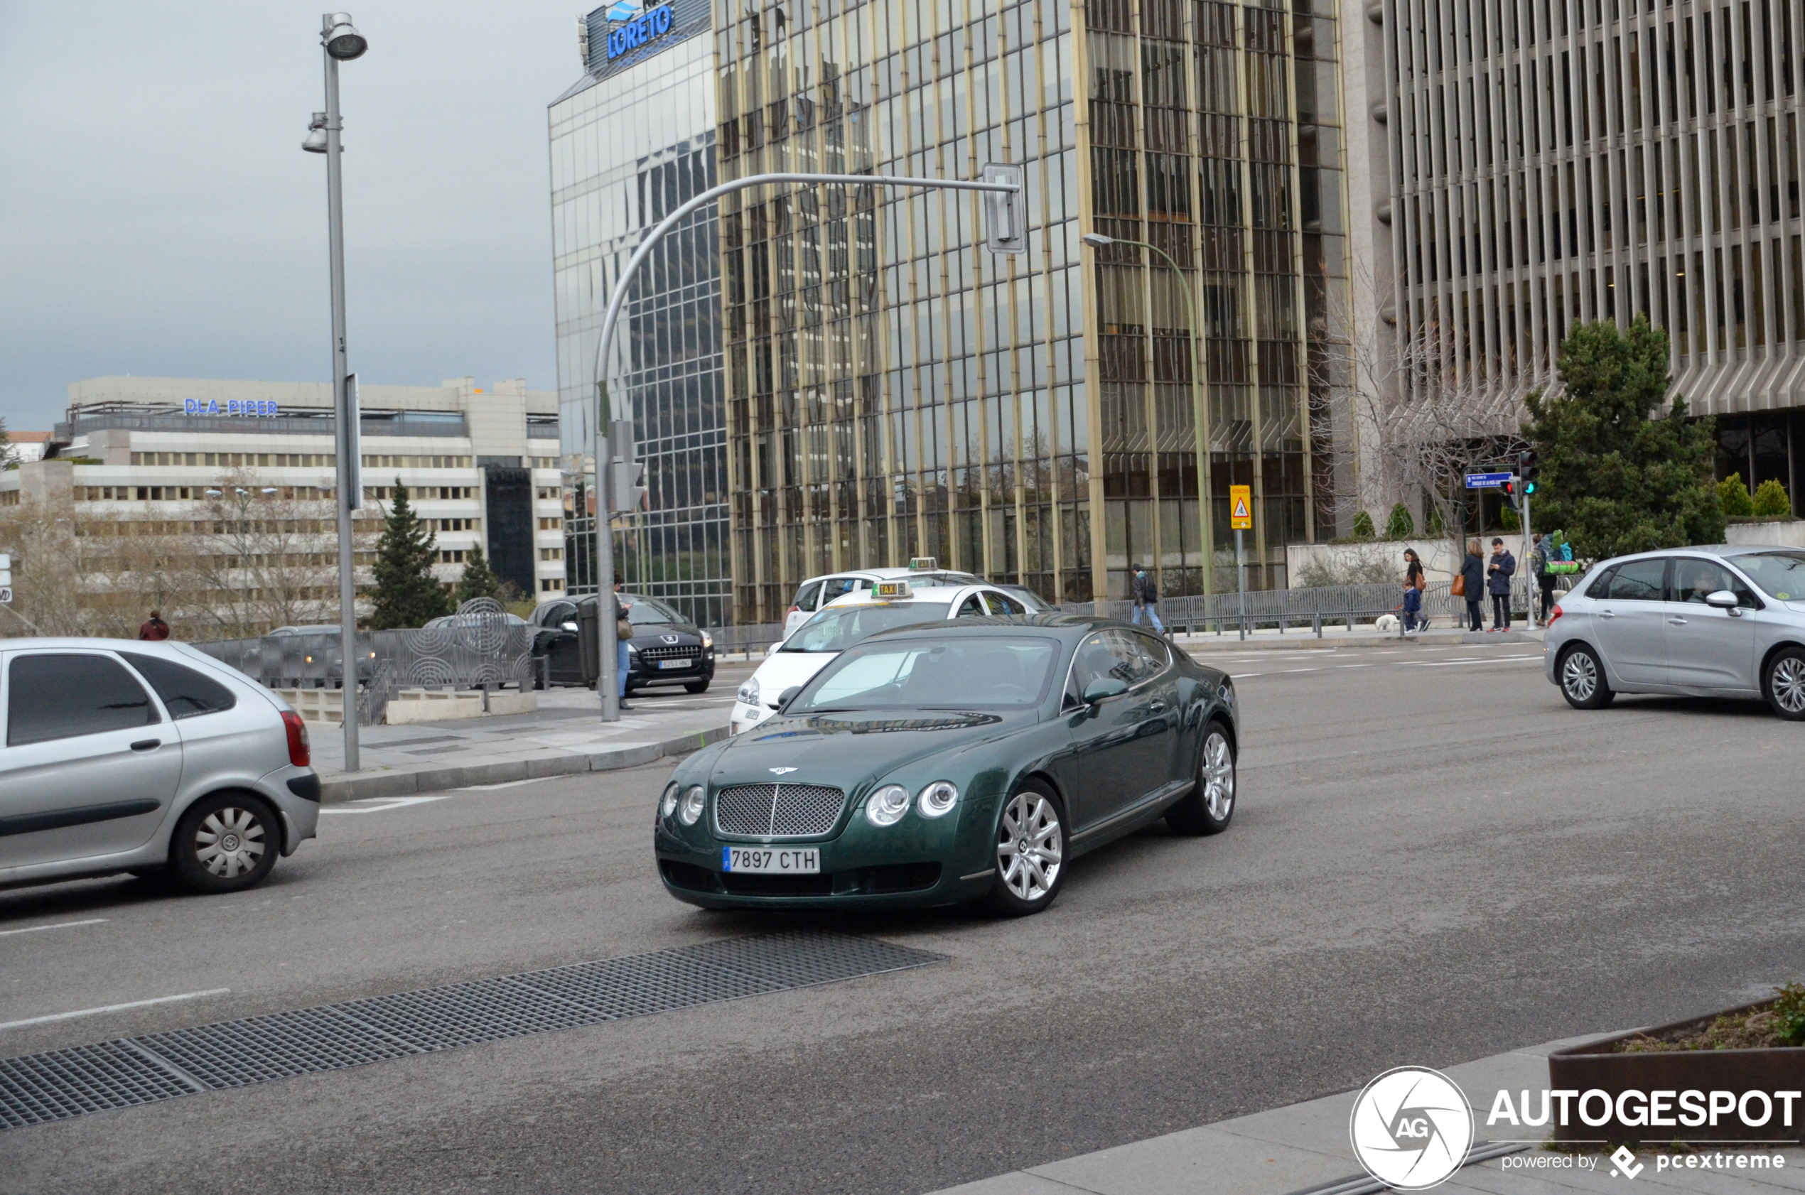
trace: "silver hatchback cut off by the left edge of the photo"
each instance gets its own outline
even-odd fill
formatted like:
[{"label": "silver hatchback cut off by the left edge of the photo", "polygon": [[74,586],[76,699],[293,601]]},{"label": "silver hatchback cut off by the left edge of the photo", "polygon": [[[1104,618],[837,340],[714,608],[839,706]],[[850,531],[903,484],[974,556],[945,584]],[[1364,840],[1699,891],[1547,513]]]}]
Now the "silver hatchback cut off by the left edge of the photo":
[{"label": "silver hatchback cut off by the left edge of the photo", "polygon": [[0,885],[260,883],[319,821],[300,715],[180,643],[0,639]]}]

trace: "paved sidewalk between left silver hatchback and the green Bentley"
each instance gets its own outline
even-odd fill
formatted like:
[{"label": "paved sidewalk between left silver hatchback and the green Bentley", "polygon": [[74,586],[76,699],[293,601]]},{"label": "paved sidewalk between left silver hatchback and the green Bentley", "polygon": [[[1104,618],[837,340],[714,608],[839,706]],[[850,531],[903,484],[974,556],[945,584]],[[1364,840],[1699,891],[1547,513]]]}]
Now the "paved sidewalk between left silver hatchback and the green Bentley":
[{"label": "paved sidewalk between left silver hatchback and the green Bentley", "polygon": [[682,690],[635,693],[619,722],[601,720],[592,690],[538,693],[538,713],[453,722],[366,726],[359,733],[361,771],[345,773],[345,736],[310,727],[314,769],[325,803],[372,796],[439,792],[473,783],[639,767],[688,755],[727,736],[733,690],[747,668],[722,668],[702,695]]}]

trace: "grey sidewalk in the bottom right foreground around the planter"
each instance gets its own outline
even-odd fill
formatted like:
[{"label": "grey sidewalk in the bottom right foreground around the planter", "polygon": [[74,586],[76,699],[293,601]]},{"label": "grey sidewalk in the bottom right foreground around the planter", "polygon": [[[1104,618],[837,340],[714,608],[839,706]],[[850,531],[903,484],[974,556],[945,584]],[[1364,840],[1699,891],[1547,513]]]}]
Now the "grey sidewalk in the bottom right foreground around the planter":
[{"label": "grey sidewalk in the bottom right foreground around the planter", "polygon": [[[1496,639],[1496,635],[1493,635]],[[1569,1157],[1540,1148],[1547,1130],[1486,1126],[1491,1099],[1500,1088],[1541,1090],[1549,1085],[1550,1051],[1578,1042],[1545,1042],[1509,1054],[1448,1067],[1444,1074],[1460,1085],[1473,1108],[1473,1152],[1486,1153],[1493,1143],[1520,1148],[1487,1157],[1455,1172],[1437,1191],[1487,1191],[1565,1195],[1569,1191],[1623,1191],[1623,1179],[1612,1175],[1610,1159],[1597,1168],[1538,1168],[1525,1161]],[[1366,1195],[1390,1188],[1372,1181],[1354,1159],[1348,1143],[1348,1117],[1359,1092],[1341,1092],[1271,1112],[1256,1112],[1231,1121],[1188,1128],[1134,1144],[1097,1150],[1063,1163],[1031,1166],[982,1182],[940,1191],[939,1195]],[[1500,1132],[1502,1130],[1502,1132]],[[1529,1139],[1532,1135],[1532,1139]],[[1653,1191],[1709,1191],[1711,1195],[1774,1195],[1805,1191],[1805,1150],[1774,1150],[1785,1157],[1783,1170],[1765,1172],[1657,1172],[1655,1155],[1641,1153],[1637,1182]],[[1635,1190],[1635,1188],[1630,1188]]]}]

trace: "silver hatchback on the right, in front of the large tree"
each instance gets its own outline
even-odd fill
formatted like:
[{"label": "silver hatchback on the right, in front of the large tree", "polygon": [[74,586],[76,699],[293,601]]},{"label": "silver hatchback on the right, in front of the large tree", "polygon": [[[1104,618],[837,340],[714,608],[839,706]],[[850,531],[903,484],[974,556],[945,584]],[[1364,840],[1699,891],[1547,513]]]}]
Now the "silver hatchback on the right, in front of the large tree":
[{"label": "silver hatchback on the right, in front of the large tree", "polygon": [[1758,697],[1782,718],[1805,718],[1805,551],[1606,560],[1554,607],[1543,668],[1579,709],[1617,693],[1686,693]]}]

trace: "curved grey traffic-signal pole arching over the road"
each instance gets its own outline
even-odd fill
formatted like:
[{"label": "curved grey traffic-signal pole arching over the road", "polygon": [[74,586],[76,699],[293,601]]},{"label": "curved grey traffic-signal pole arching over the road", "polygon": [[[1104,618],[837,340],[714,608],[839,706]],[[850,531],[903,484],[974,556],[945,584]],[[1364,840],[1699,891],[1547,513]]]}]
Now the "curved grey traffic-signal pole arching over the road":
[{"label": "curved grey traffic-signal pole arching over the road", "polygon": [[606,377],[608,347],[614,343],[614,325],[621,318],[621,307],[626,305],[626,287],[634,280],[634,273],[639,269],[641,262],[652,255],[653,245],[657,245],[668,231],[677,227],[691,211],[706,208],[722,195],[773,182],[845,182],[850,186],[917,186],[942,191],[987,191],[996,197],[996,202],[986,204],[984,213],[987,231],[986,242],[989,251],[1022,253],[1027,247],[1027,213],[1020,209],[1023,186],[1023,173],[1020,166],[986,166],[982,182],[966,182],[962,179],[910,179],[901,175],[749,175],[745,179],[722,182],[717,188],[702,191],[690,202],[677,208],[677,211],[664,217],[664,220],[661,220],[643,242],[639,242],[639,247],[634,249],[634,256],[626,258],[626,267],[621,269],[621,276],[614,283],[614,294],[608,296],[608,310],[601,320],[601,339],[596,341],[596,630],[599,632],[596,639],[601,653],[601,668],[597,672],[596,688],[601,690],[603,722],[621,720],[621,684],[619,673],[616,672],[619,648],[616,646],[614,635],[614,610],[603,605],[603,599],[614,592],[614,533],[608,525],[608,507],[614,500],[608,482],[608,468],[614,460],[608,448],[608,424],[614,419],[614,412],[608,406]]}]

